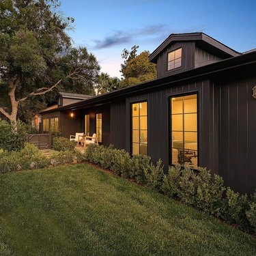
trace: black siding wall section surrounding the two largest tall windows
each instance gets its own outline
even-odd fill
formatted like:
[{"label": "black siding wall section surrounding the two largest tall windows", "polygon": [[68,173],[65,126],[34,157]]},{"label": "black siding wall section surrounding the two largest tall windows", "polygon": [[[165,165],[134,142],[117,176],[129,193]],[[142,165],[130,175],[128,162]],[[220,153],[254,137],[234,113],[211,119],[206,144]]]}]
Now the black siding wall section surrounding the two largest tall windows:
[{"label": "black siding wall section surrounding the two largest tall windows", "polygon": [[[212,169],[215,164],[216,147],[218,144],[211,143],[214,132],[213,110],[210,102],[212,97],[212,86],[210,81],[197,81],[189,84],[167,85],[165,89],[158,91],[148,91],[147,94],[137,94],[126,98],[126,147],[131,152],[130,137],[130,104],[147,100],[148,108],[148,154],[154,162],[161,158],[167,167],[171,164],[170,147],[170,122],[169,98],[171,96],[181,96],[184,94],[198,94],[198,143],[199,143],[199,166]],[[202,121],[203,120],[203,121]],[[218,166],[214,169],[218,173]]]}]

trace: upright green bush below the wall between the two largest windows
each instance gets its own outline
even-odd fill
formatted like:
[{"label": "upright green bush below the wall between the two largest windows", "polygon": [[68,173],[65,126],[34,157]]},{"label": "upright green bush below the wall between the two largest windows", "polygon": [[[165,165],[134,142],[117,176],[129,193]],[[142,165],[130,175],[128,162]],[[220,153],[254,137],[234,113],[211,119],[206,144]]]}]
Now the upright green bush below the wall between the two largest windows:
[{"label": "upright green bush below the wall between the two largest windows", "polygon": [[150,168],[144,170],[146,185],[154,190],[160,191],[164,176],[164,166],[162,165],[162,161],[158,160],[156,166],[151,163]]}]

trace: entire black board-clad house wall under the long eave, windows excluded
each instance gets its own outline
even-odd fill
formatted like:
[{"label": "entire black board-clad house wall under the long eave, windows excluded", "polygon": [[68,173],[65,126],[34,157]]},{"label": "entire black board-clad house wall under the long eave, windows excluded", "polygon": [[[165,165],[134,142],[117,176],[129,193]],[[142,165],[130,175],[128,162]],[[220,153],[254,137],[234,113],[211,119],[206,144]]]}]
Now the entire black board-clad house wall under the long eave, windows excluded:
[{"label": "entire black board-clad house wall under the long eave, windows excluded", "polygon": [[[197,94],[199,166],[221,175],[226,186],[242,193],[256,188],[256,85],[255,66],[223,71],[208,79],[167,84],[144,93],[113,98],[85,109],[61,112],[63,135],[84,132],[85,114],[90,115],[90,134],[96,130],[96,113],[102,113],[102,144],[131,152],[131,104],[147,101],[148,154],[171,164],[169,98]],[[57,113],[47,114],[48,116]]]}]

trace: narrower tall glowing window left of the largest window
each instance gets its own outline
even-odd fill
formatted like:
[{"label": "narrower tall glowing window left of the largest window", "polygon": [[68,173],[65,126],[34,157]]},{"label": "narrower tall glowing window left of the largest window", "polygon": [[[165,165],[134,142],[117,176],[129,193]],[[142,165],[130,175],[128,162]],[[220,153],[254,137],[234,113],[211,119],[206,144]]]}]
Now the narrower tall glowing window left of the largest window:
[{"label": "narrower tall glowing window left of the largest window", "polygon": [[147,155],[147,102],[132,104],[132,154]]}]

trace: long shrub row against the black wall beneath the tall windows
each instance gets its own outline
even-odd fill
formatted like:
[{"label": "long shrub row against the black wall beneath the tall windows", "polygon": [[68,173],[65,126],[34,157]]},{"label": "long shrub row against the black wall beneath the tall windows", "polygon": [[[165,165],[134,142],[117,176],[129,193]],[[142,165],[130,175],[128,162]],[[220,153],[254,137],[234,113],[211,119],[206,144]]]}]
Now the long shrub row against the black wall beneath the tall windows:
[{"label": "long shrub row against the black wall beneath the tall windows", "polygon": [[110,169],[116,175],[133,178],[139,183],[193,206],[202,212],[236,224],[240,229],[256,233],[256,192],[248,199],[223,184],[223,178],[200,168],[193,171],[179,165],[164,173],[162,162],[153,165],[149,156],[133,155],[111,145],[91,144],[85,160]]}]

